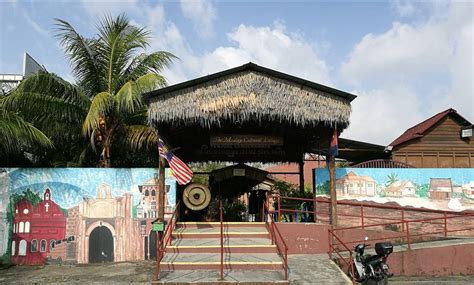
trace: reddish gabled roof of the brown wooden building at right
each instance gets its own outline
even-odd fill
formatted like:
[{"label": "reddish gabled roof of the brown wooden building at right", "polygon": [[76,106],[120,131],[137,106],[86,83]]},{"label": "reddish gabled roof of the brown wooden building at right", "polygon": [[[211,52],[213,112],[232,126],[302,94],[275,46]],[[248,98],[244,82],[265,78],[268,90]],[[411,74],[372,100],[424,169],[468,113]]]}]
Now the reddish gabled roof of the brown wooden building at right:
[{"label": "reddish gabled roof of the brown wooden building at right", "polygon": [[454,116],[454,118],[463,126],[471,125],[471,123],[468,120],[466,120],[466,118],[461,116],[456,110],[450,108],[446,111],[443,111],[441,113],[434,115],[433,117],[429,119],[426,119],[425,121],[419,123],[418,125],[415,125],[409,128],[401,136],[399,136],[391,144],[389,144],[389,146],[394,147],[404,142],[410,141],[412,139],[422,137],[428,129],[430,129],[436,123],[438,123],[443,118],[449,115]]}]

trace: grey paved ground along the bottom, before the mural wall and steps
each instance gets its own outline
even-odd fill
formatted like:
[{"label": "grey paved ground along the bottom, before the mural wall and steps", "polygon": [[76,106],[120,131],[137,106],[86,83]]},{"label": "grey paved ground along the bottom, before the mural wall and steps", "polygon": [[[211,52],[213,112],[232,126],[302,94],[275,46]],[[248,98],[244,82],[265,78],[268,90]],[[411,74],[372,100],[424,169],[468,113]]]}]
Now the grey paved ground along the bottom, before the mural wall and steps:
[{"label": "grey paved ground along the bottom, before the mural wall and steps", "polygon": [[[291,284],[350,284],[337,266],[327,259],[327,255],[290,255],[288,264]],[[150,284],[154,279],[154,270],[154,263],[145,261],[93,265],[15,266],[0,270],[0,284]],[[163,273],[162,280],[176,282],[179,274],[182,277],[194,276],[196,281],[213,282],[219,279],[218,271],[175,271],[175,273]],[[236,270],[226,272],[225,279],[268,282],[282,280],[282,274],[283,271]],[[474,276],[394,277],[390,279],[389,284],[467,285],[474,284]]]}]

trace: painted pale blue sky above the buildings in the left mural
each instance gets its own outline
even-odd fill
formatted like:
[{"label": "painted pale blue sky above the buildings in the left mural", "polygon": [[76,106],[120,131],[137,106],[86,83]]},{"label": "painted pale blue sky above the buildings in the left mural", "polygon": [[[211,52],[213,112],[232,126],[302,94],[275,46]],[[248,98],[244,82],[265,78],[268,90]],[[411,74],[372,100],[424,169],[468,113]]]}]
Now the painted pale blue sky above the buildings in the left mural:
[{"label": "painted pale blue sky above the buildings in the left mural", "polygon": [[[138,185],[150,180],[158,173],[154,168],[7,168],[10,193],[21,193],[30,188],[43,193],[46,187],[52,190],[52,199],[62,208],[71,208],[87,198],[96,197],[96,188],[101,183],[112,187],[112,196],[132,193],[134,205],[140,193]],[[176,181],[171,171],[166,171],[166,185],[170,186],[168,203],[176,203]],[[3,184],[3,183],[0,183]]]}]

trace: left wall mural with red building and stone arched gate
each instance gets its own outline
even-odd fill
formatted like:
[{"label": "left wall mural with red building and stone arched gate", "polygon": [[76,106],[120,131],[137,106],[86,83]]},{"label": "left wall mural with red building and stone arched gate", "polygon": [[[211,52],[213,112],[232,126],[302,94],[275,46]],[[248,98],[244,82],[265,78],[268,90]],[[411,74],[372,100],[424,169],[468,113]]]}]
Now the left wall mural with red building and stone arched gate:
[{"label": "left wall mural with red building and stone arched gate", "polygon": [[[156,169],[0,169],[0,250],[15,264],[156,257]],[[176,204],[167,169],[165,219]]]}]

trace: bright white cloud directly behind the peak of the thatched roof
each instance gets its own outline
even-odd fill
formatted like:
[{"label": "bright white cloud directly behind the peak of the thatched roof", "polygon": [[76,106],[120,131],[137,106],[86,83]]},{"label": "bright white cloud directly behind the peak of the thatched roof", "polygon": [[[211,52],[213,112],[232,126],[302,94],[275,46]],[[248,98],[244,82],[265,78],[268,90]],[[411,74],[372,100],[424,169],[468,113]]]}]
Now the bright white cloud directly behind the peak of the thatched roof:
[{"label": "bright white cloud directly behind the peak of the thatched roof", "polygon": [[286,31],[281,23],[273,27],[240,25],[228,34],[234,46],[222,46],[203,58],[202,73],[242,65],[249,61],[321,84],[331,85],[329,69],[311,43]]}]

